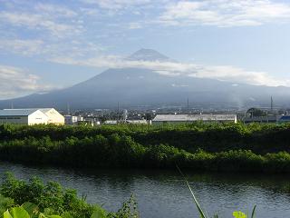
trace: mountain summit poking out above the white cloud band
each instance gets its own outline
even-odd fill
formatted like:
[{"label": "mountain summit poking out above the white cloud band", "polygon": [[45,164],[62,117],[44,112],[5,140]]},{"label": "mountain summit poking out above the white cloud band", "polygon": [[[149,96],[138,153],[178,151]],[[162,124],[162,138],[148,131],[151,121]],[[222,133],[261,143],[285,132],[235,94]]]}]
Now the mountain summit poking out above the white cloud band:
[{"label": "mountain summit poking out above the white cloud band", "polygon": [[172,61],[168,56],[160,54],[153,49],[141,48],[134,54],[131,54],[126,60],[129,61],[159,61],[167,62]]}]

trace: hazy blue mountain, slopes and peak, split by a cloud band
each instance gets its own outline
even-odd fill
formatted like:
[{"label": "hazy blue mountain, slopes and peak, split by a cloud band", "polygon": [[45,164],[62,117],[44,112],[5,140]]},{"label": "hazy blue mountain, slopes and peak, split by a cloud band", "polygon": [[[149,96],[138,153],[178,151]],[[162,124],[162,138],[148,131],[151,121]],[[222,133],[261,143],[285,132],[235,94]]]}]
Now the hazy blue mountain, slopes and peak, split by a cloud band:
[{"label": "hazy blue mountain, slopes and peak, split by a cloud band", "polygon": [[[140,49],[129,61],[175,62],[151,49]],[[0,101],[1,108],[14,104],[21,107],[56,107],[73,109],[126,107],[138,105],[179,105],[189,97],[192,104],[204,107],[268,105],[270,96],[275,104],[289,105],[289,87],[237,84],[216,79],[197,78],[185,74],[160,74],[145,68],[108,69],[91,79],[63,90],[46,94]]]}]

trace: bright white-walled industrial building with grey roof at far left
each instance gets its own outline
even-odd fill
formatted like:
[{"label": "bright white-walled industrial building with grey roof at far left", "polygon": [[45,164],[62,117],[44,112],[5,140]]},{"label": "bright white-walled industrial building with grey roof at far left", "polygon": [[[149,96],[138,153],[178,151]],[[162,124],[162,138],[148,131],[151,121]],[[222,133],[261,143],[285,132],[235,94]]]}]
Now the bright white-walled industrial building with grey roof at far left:
[{"label": "bright white-walled industrial building with grey roof at far left", "polygon": [[53,108],[4,109],[0,124],[64,124],[64,117]]}]

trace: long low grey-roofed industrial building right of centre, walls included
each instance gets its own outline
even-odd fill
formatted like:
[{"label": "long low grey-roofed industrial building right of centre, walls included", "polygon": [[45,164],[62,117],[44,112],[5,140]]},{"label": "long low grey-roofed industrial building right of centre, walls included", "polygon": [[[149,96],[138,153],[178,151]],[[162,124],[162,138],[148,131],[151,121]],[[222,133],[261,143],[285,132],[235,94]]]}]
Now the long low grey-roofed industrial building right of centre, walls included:
[{"label": "long low grey-roofed industrial building right of centre, walls included", "polygon": [[186,124],[192,122],[237,123],[237,114],[157,114],[152,124]]}]

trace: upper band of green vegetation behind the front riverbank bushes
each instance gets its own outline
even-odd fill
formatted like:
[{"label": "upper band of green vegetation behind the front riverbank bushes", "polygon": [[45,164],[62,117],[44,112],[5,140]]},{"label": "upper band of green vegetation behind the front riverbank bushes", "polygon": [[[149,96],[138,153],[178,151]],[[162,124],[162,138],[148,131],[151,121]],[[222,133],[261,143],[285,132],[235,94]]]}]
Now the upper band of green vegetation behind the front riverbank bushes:
[{"label": "upper band of green vegetation behind the front riverbank bushes", "polygon": [[28,138],[52,141],[93,138],[112,134],[130,136],[137,144],[169,144],[190,153],[202,149],[210,153],[251,150],[255,154],[290,152],[290,124],[182,124],[182,125],[0,125],[0,144]]}]

